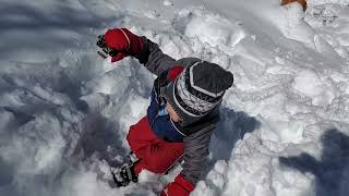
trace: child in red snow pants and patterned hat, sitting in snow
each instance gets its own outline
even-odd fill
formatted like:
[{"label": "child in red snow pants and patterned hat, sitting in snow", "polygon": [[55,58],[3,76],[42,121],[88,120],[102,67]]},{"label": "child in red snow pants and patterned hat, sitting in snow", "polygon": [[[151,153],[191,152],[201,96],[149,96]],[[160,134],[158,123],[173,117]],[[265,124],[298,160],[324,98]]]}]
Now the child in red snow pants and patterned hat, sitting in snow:
[{"label": "child in red snow pants and patterned hat, sitting in snow", "polygon": [[128,185],[142,170],[165,173],[183,157],[181,173],[161,196],[189,195],[208,155],[210,135],[219,120],[218,108],[233,76],[217,64],[196,58],[176,61],[158,45],[127,28],[109,29],[105,45],[117,51],[111,61],[131,56],[158,77],[154,82],[147,115],[130,127],[127,140],[137,158],[122,168],[115,181]]}]

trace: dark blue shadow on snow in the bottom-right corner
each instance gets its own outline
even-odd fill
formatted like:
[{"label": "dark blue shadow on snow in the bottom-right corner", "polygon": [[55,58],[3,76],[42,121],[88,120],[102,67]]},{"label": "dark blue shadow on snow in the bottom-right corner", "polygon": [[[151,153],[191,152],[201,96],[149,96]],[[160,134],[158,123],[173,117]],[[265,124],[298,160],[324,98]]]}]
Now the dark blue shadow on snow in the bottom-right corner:
[{"label": "dark blue shadow on snow in the bottom-right corner", "polygon": [[322,137],[320,160],[309,154],[280,157],[280,164],[315,176],[316,196],[346,196],[349,192],[349,137],[338,130],[328,130]]}]

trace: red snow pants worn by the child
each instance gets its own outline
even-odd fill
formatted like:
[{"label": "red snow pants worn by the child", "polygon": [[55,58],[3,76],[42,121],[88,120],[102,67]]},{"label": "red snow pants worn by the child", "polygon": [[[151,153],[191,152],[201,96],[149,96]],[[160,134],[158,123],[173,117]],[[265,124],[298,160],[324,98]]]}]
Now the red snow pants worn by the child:
[{"label": "red snow pants worn by the child", "polygon": [[141,159],[134,168],[136,173],[143,169],[154,173],[165,173],[183,155],[183,143],[158,139],[152,131],[147,117],[130,126],[127,139],[131,150]]}]

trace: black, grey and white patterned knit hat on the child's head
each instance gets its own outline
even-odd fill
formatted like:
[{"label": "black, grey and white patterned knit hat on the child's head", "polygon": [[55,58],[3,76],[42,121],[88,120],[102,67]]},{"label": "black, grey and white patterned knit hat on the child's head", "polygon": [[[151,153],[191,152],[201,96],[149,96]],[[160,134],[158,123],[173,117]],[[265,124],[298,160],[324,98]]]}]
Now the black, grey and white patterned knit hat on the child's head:
[{"label": "black, grey and white patterned knit hat on the child's head", "polygon": [[232,83],[233,75],[218,64],[197,61],[161,89],[160,96],[172,106],[181,119],[180,124],[185,126],[215,109]]}]

